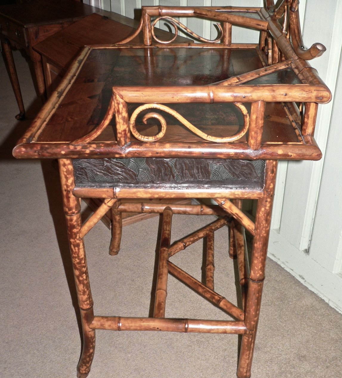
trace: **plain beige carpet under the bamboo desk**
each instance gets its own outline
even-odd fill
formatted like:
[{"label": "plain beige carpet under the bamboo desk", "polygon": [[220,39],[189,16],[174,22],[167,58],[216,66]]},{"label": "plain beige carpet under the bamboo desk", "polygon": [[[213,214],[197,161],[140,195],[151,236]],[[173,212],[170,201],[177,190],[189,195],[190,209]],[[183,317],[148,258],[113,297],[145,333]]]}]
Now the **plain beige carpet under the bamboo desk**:
[{"label": "plain beige carpet under the bamboo desk", "polygon": [[[15,60],[28,118],[39,108],[28,66]],[[0,61],[1,363],[3,378],[76,377],[79,316],[60,189],[50,163],[15,160],[11,149],[28,127],[14,119],[17,105]],[[176,216],[172,237],[208,220]],[[127,226],[118,256],[98,224],[86,237],[97,315],[147,316],[158,218]],[[236,302],[227,229],[215,239],[215,289]],[[323,253],[323,251],[322,251]],[[201,242],[173,257],[200,279]],[[234,299],[235,298],[235,299]],[[199,300],[198,300],[199,299]],[[167,316],[224,319],[224,314],[170,277]],[[89,378],[234,377],[238,337],[156,332],[96,332]],[[342,316],[275,262],[268,260],[252,366],[253,378],[342,376]]]}]

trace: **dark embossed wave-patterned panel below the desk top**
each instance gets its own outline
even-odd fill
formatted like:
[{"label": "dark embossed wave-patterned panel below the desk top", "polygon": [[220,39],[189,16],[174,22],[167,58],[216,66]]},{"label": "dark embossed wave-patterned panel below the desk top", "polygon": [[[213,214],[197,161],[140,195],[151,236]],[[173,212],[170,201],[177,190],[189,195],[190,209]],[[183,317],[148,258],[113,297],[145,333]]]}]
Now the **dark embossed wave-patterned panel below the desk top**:
[{"label": "dark embossed wave-patterned panel below the desk top", "polygon": [[73,160],[82,187],[236,187],[261,189],[265,161],[192,158]]}]

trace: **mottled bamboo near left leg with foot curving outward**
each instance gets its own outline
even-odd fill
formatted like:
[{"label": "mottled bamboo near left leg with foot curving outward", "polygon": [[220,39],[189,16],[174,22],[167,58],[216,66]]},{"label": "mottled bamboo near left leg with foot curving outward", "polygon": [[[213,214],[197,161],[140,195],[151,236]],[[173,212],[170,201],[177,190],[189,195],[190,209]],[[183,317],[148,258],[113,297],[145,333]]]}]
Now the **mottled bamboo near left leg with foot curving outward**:
[{"label": "mottled bamboo near left leg with foot curving outward", "polygon": [[78,304],[81,311],[83,330],[82,355],[77,366],[77,377],[85,378],[90,372],[95,350],[95,330],[89,328],[93,321],[93,299],[91,297],[87,260],[83,239],[80,237],[81,216],[80,200],[74,197],[75,186],[73,164],[69,159],[59,160],[62,184],[63,206],[67,222],[68,239],[73,265]]}]

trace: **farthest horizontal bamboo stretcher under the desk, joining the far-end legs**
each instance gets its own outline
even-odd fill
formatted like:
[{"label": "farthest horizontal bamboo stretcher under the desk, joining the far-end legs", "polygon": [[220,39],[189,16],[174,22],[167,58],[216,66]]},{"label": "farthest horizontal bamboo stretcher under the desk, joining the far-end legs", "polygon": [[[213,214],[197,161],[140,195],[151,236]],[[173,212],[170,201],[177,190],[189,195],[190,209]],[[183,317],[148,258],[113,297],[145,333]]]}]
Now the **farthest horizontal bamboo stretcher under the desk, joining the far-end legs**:
[{"label": "farthest horizontal bamboo stretcher under the desk, joining the far-end legs", "polygon": [[119,212],[136,213],[162,213],[166,206],[172,209],[173,214],[190,215],[227,215],[220,206],[217,205],[187,205],[178,203],[149,203],[149,202],[122,202],[118,206]]}]

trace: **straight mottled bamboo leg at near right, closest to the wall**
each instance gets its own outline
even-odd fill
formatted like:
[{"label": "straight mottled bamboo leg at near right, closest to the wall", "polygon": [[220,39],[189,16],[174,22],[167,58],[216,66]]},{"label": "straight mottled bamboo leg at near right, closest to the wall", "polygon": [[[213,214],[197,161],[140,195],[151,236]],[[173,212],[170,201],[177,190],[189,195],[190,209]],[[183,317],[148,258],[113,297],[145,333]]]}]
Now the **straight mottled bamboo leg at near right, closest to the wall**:
[{"label": "straight mottled bamboo leg at near right, closest to the wall", "polygon": [[252,247],[251,271],[249,274],[248,293],[245,308],[245,325],[249,331],[242,336],[240,358],[237,369],[238,378],[251,376],[252,358],[257,333],[265,263],[271,225],[272,203],[274,195],[277,161],[266,161],[265,187],[263,197],[258,200],[255,218],[255,237]]}]

